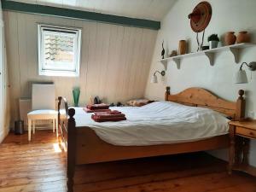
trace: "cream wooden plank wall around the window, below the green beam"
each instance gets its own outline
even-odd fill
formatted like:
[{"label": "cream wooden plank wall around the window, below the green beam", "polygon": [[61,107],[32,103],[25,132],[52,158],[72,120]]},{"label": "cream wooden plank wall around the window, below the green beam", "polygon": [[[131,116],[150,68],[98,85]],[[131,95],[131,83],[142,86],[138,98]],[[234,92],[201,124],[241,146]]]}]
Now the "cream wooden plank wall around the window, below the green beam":
[{"label": "cream wooden plank wall around the window, below the green beam", "polygon": [[[142,97],[148,79],[156,31],[84,20],[4,11],[12,122],[19,119],[20,97],[31,97],[31,83],[53,81],[56,96],[73,102],[73,86],[80,86],[80,103],[90,96],[105,102]],[[38,75],[38,23],[81,27],[79,78]]]}]

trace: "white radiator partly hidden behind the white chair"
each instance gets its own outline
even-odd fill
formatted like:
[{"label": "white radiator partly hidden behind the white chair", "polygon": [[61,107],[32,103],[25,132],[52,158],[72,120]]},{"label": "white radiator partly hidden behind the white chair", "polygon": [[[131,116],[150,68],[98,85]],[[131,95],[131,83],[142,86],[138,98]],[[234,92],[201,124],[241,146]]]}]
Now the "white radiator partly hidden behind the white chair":
[{"label": "white radiator partly hidden behind the white chair", "polygon": [[[25,129],[27,130],[27,113],[32,110],[32,101],[28,98],[20,98],[20,120],[24,121]],[[36,128],[52,129],[52,120],[37,120]]]}]

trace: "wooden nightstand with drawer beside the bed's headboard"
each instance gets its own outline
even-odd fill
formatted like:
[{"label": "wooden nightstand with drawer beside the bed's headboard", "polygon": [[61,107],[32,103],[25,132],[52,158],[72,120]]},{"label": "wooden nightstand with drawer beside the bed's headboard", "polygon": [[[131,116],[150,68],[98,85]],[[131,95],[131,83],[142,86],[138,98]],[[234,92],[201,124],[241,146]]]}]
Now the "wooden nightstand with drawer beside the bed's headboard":
[{"label": "wooden nightstand with drawer beside the bed's headboard", "polygon": [[256,120],[230,121],[230,164],[232,170],[247,172],[256,176],[256,168],[249,166],[250,139],[256,139]]}]

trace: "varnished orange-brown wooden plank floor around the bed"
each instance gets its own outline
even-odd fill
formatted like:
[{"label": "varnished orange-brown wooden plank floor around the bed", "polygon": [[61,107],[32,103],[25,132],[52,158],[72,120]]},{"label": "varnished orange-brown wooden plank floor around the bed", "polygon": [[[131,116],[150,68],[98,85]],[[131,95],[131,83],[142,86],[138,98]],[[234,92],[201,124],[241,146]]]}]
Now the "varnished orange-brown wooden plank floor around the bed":
[{"label": "varnished orange-brown wooden plank floor around the bed", "polygon": [[[0,192],[66,191],[66,154],[55,135],[37,131],[0,144]],[[78,166],[77,192],[256,192],[256,178],[204,153]]]}]

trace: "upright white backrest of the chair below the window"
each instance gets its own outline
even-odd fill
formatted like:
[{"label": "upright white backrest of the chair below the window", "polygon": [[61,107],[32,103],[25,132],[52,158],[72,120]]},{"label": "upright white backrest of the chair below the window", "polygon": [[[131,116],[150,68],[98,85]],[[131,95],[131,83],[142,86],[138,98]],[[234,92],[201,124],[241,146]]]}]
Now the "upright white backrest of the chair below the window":
[{"label": "upright white backrest of the chair below the window", "polygon": [[55,110],[55,84],[32,84],[32,110]]}]

